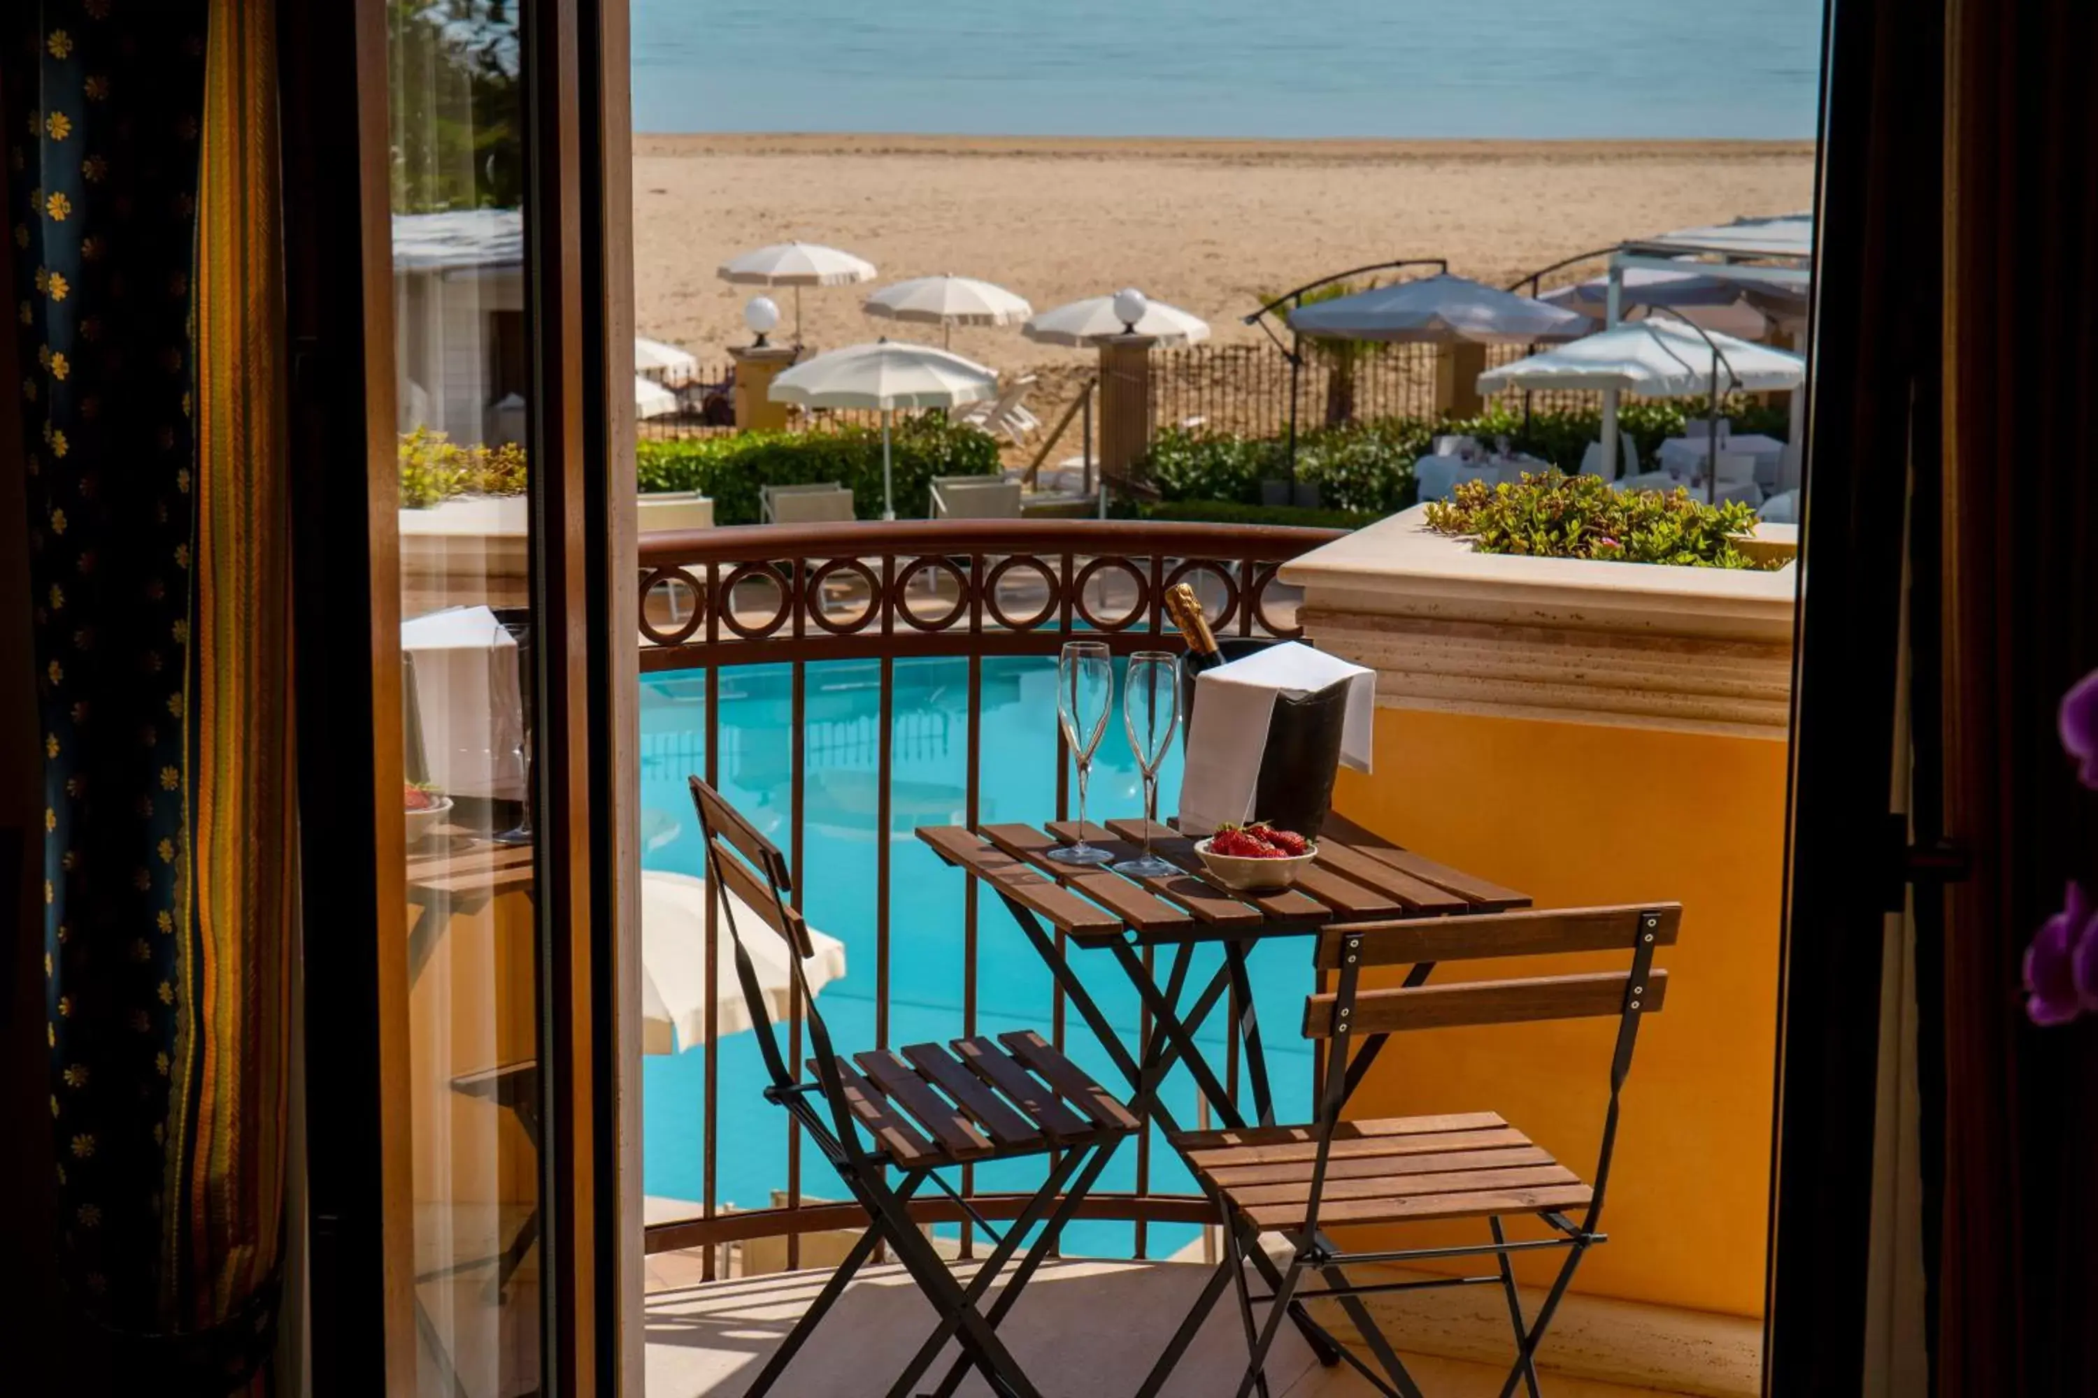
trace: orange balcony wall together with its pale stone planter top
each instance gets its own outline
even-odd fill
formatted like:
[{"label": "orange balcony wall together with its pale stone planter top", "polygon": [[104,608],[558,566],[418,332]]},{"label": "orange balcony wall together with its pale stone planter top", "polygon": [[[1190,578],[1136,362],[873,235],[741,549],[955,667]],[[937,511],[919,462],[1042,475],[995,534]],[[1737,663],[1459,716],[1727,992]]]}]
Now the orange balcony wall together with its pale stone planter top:
[{"label": "orange balcony wall together with its pale stone planter top", "polygon": [[[1783,549],[1792,530],[1764,526],[1758,541]],[[1567,1314],[1586,1297],[1636,1304],[1609,1331],[1683,1354],[1708,1352],[1683,1308],[1731,1316],[1735,1369],[1752,1377],[1798,570],[1483,555],[1429,532],[1416,507],[1280,576],[1305,591],[1311,641],[1378,673],[1374,776],[1343,771],[1334,809],[1538,908],[1683,903],[1668,1008],[1641,1029],[1626,1088],[1611,1243],[1582,1266],[1586,1295]],[[1563,960],[1523,975],[1592,968]],[[1351,1111],[1498,1111],[1559,1159],[1592,1161],[1609,1033],[1553,1021],[1406,1035]],[[1397,1243],[1368,1232],[1360,1245]],[[1548,1281],[1534,1260],[1517,1272]],[[1664,1371],[1660,1388],[1687,1379],[1672,1364],[1597,1377]]]}]

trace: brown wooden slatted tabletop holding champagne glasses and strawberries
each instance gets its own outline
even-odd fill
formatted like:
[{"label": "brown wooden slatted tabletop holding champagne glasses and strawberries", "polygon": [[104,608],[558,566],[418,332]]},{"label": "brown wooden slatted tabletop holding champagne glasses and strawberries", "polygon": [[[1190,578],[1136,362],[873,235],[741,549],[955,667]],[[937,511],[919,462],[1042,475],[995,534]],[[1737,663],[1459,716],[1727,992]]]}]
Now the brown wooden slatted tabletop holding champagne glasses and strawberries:
[{"label": "brown wooden slatted tabletop holding champagne glasses and strawberries", "polygon": [[[1194,840],[1152,826],[1152,851],[1179,874],[1131,878],[1104,864],[1064,866],[1053,845],[1076,838],[1076,822],[921,826],[919,838],[950,866],[992,884],[1053,929],[1085,941],[1135,935],[1137,941],[1238,939],[1309,933],[1334,922],[1441,918],[1527,908],[1529,897],[1487,878],[1437,864],[1347,822],[1326,820],[1318,859],[1292,889],[1234,893],[1202,866]],[[1087,840],[1116,861],[1139,853],[1146,824],[1089,824]]]}]

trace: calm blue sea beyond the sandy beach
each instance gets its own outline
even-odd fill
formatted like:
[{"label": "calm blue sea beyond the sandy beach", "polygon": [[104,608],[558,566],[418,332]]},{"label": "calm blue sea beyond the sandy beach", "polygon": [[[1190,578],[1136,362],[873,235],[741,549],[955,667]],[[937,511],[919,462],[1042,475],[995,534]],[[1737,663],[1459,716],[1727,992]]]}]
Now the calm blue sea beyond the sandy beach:
[{"label": "calm blue sea beyond the sandy beach", "polygon": [[1823,0],[634,0],[642,132],[1760,138]]}]

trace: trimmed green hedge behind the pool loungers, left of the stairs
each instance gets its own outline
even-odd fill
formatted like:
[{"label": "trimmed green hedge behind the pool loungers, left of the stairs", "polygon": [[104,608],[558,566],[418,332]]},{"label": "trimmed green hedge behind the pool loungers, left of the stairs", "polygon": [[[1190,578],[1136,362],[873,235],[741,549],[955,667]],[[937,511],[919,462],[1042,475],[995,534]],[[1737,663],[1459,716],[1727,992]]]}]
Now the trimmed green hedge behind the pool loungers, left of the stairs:
[{"label": "trimmed green hedge behind the pool loungers, left of the stairs", "polygon": [[[852,490],[854,514],[881,518],[879,428],[644,440],[634,455],[642,490],[701,490],[713,497],[715,524],[757,524],[759,486],[831,480]],[[932,507],[932,478],[999,474],[999,442],[988,432],[925,413],[896,421],[892,465],[896,516],[923,520]]]}]

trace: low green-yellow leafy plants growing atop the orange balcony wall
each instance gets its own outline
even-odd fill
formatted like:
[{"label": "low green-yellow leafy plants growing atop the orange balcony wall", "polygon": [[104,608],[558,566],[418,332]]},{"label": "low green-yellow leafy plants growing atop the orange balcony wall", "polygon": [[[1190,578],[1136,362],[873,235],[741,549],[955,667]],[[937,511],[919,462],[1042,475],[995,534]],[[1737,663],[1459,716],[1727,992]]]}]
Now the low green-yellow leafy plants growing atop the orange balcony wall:
[{"label": "low green-yellow leafy plants growing atop the orange balcony wall", "polygon": [[1544,472],[1513,486],[1467,480],[1454,499],[1433,501],[1427,520],[1439,534],[1471,539],[1481,553],[1678,568],[1781,566],[1739,549],[1739,537],[1756,526],[1756,511],[1739,501],[1706,505],[1680,488],[1613,490],[1599,476]]}]

